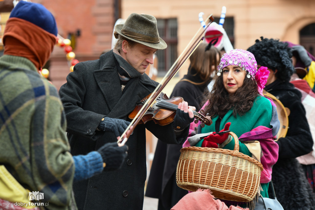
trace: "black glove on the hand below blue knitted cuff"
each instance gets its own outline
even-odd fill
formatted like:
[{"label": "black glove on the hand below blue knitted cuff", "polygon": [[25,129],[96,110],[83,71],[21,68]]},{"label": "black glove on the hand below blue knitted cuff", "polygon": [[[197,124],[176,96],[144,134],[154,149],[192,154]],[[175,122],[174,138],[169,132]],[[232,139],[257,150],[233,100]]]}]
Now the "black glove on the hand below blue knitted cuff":
[{"label": "black glove on the hand below blue knitted cuff", "polygon": [[128,155],[127,150],[127,145],[118,147],[116,142],[106,143],[98,149],[97,152],[100,153],[105,163],[104,171],[113,171],[121,168]]}]

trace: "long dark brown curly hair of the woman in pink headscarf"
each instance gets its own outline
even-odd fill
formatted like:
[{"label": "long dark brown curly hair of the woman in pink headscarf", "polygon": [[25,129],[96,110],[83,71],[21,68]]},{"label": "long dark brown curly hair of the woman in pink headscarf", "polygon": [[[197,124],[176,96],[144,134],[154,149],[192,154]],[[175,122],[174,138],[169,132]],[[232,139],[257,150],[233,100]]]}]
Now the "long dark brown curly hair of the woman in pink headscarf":
[{"label": "long dark brown curly hair of the woman in pink headscarf", "polygon": [[222,119],[230,109],[233,109],[234,117],[249,111],[258,95],[258,89],[255,80],[245,77],[242,87],[230,95],[224,88],[221,74],[216,78],[212,91],[205,94],[205,99],[209,100],[209,104],[204,108],[205,113],[209,113],[212,118],[218,115]]}]

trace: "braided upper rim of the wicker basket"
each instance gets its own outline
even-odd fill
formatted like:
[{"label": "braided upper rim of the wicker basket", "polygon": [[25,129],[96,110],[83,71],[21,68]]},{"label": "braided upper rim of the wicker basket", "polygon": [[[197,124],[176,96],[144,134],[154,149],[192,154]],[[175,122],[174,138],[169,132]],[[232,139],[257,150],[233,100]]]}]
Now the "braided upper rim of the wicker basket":
[{"label": "braided upper rim of the wicker basket", "polygon": [[[190,146],[190,147],[183,147],[180,149],[180,152],[182,151],[198,151],[198,152],[215,152],[215,153],[224,153],[225,155],[233,155],[234,154],[234,150],[229,150],[229,149],[221,149],[221,148],[209,148],[209,147],[196,147],[196,146]],[[237,155],[233,155],[236,156],[238,158],[242,158],[244,160],[248,160],[254,164],[256,164],[261,171],[264,170],[264,167],[262,166],[262,164],[255,160],[254,158],[245,155],[241,152],[239,152]]]}]

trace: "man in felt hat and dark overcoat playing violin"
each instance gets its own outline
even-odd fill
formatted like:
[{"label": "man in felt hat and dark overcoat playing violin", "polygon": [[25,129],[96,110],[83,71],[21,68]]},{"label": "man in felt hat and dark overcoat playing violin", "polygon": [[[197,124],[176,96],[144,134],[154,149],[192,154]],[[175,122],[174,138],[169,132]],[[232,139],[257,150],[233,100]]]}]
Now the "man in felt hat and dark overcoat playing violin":
[{"label": "man in felt hat and dark overcoat playing violin", "polygon": [[[130,123],[137,102],[152,93],[157,82],[146,74],[157,50],[167,47],[151,15],[129,15],[115,27],[113,50],[95,61],[80,62],[67,76],[59,94],[66,112],[72,155],[97,150],[117,141]],[[180,103],[174,121],[158,125],[153,120],[137,125],[126,144],[128,156],[120,170],[102,172],[73,184],[79,209],[142,209],[146,180],[145,128],[165,143],[179,144],[193,121],[187,102]]]}]

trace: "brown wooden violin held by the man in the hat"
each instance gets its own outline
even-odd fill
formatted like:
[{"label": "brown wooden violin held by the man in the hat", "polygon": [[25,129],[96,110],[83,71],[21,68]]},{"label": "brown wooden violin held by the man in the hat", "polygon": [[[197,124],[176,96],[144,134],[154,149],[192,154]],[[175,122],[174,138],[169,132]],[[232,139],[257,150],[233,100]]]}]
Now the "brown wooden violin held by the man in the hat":
[{"label": "brown wooden violin held by the man in the hat", "polygon": [[[144,99],[137,103],[135,109],[129,114],[130,119],[134,119],[136,117],[136,114],[140,111],[143,104],[147,102],[150,96],[151,94],[149,94],[148,96],[146,96]],[[172,97],[169,99],[166,96],[166,94],[161,92],[160,95],[156,98],[156,100],[151,104],[146,113],[143,115],[138,124],[142,123],[145,124],[147,121],[153,120],[155,124],[168,125],[169,123],[174,121],[178,104],[183,101],[184,99],[182,97]],[[204,125],[212,124],[212,120],[209,114],[203,116],[204,113],[203,109],[200,110],[201,113],[196,111],[192,112],[195,117],[195,123],[198,123],[198,121],[202,122],[201,127],[204,127]]]}]

